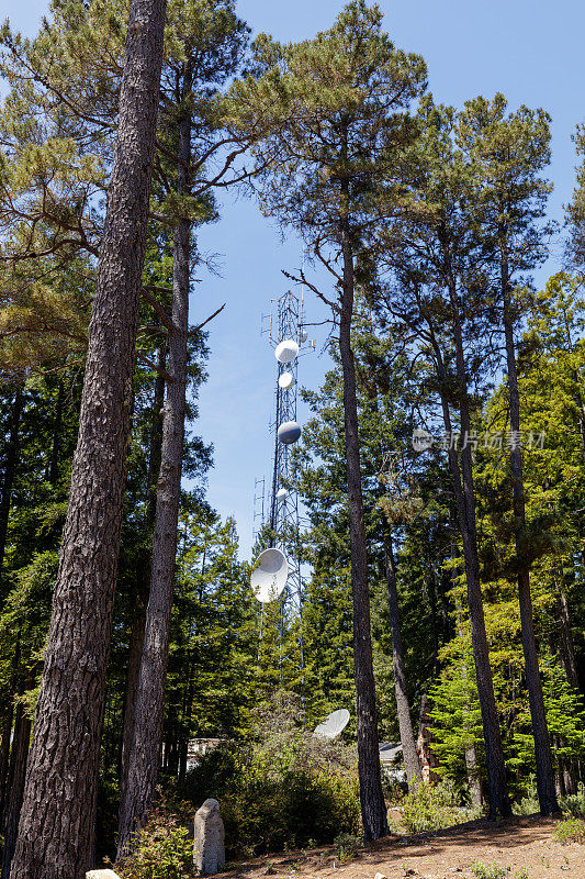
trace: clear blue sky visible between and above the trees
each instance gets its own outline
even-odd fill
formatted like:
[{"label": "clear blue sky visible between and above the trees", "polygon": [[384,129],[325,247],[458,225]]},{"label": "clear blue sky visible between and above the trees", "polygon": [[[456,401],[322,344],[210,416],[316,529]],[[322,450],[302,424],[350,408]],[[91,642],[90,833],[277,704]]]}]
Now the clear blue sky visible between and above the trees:
[{"label": "clear blue sky visible between and above the trees", "polygon": [[[254,32],[266,31],[281,41],[313,35],[330,25],[342,2],[296,0],[279,3],[240,0],[238,11]],[[574,183],[571,143],[577,122],[585,120],[583,40],[585,7],[580,0],[410,0],[380,3],[396,45],[427,60],[436,100],[461,105],[468,98],[490,98],[502,91],[510,107],[543,107],[553,119],[555,183],[551,214],[562,219],[562,205]],[[8,0],[2,16],[33,34],[47,3]],[[272,443],[268,421],[273,401],[274,359],[260,337],[260,316],[269,300],[285,289],[281,269],[301,260],[294,241],[280,244],[277,232],[254,202],[225,200],[220,223],[203,232],[203,252],[221,254],[222,277],[203,276],[192,302],[193,321],[204,319],[226,301],[211,326],[210,380],[201,394],[196,425],[215,446],[210,474],[211,503],[236,516],[246,557],[251,543],[254,480],[270,474]],[[553,255],[549,268],[559,266]],[[323,318],[318,303],[307,300],[308,320]],[[317,347],[325,337],[317,327]],[[315,387],[326,368],[323,357],[305,357],[300,381]],[[303,411],[301,409],[301,421]]]}]

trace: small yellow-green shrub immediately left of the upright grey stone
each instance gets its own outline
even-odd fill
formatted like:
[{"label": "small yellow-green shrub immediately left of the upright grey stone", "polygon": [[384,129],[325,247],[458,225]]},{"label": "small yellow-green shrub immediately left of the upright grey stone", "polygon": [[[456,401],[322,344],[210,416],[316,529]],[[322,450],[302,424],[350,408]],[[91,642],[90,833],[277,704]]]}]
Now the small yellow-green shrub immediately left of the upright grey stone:
[{"label": "small yellow-green shrub immediately left of the upright grey stone", "polygon": [[162,805],[138,832],[136,850],[116,864],[121,879],[191,879],[193,843]]}]

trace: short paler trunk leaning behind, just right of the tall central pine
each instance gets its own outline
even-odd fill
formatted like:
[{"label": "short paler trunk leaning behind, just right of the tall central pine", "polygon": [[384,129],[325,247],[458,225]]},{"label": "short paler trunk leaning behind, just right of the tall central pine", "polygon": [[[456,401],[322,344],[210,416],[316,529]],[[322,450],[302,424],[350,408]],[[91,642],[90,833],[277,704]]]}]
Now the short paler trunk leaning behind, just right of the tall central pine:
[{"label": "short paler trunk leaning behind, just right of the tall central pine", "polygon": [[394,547],[392,534],[386,530],[385,535],[386,583],[390,612],[390,632],[392,636],[392,661],[394,664],[394,693],[396,696],[396,711],[398,713],[398,728],[401,731],[402,754],[408,787],[416,790],[423,780],[420,763],[416,753],[415,734],[410,719],[410,705],[406,689],[406,668],[402,646],[401,616],[398,609],[398,591],[396,589],[396,567],[394,564]]}]

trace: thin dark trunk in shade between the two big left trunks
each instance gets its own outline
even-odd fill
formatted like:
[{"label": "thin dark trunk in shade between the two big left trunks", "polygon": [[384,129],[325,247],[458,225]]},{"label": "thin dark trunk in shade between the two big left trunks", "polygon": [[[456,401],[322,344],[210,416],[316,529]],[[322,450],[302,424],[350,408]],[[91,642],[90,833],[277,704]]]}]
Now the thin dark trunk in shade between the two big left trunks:
[{"label": "thin dark trunk in shade between the two big left trunks", "polygon": [[[166,342],[158,349],[157,366],[160,370],[166,367]],[[157,372],[155,379],[155,393],[153,400],[153,425],[150,433],[150,449],[148,456],[148,476],[145,528],[151,533],[155,524],[156,512],[156,483],[160,469],[160,455],[162,448],[162,407],[165,404],[165,379]],[[146,605],[151,577],[151,557],[144,571],[144,578],[137,583],[134,602],[132,605],[132,630],[128,647],[128,665],[126,672],[126,692],[124,697],[124,726],[122,731],[122,749],[120,755],[120,801],[126,797],[128,779],[128,759],[134,737],[134,717],[136,709],[136,693],[138,691],[138,676],[144,646],[144,630],[146,625]]]}]

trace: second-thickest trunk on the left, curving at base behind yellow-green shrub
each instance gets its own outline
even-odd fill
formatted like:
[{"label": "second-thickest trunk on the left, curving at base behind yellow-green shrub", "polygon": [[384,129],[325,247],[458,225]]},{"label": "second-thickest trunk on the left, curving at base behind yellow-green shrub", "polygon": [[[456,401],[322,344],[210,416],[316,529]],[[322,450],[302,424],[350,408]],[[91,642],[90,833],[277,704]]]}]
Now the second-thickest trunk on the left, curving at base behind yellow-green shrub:
[{"label": "second-thickest trunk on the left, curving at base behind yellow-green shrub", "polygon": [[[177,171],[179,197],[189,191],[190,156],[191,116],[185,113],[179,122]],[[184,439],[190,237],[191,221],[181,218],[173,231],[173,331],[169,338],[168,365],[172,381],[167,387],[162,419],[162,454],[153,538],[153,576],[136,694],[128,778],[125,798],[120,804],[119,859],[131,850],[133,834],[144,823],[153,806],[160,763]]]}]

